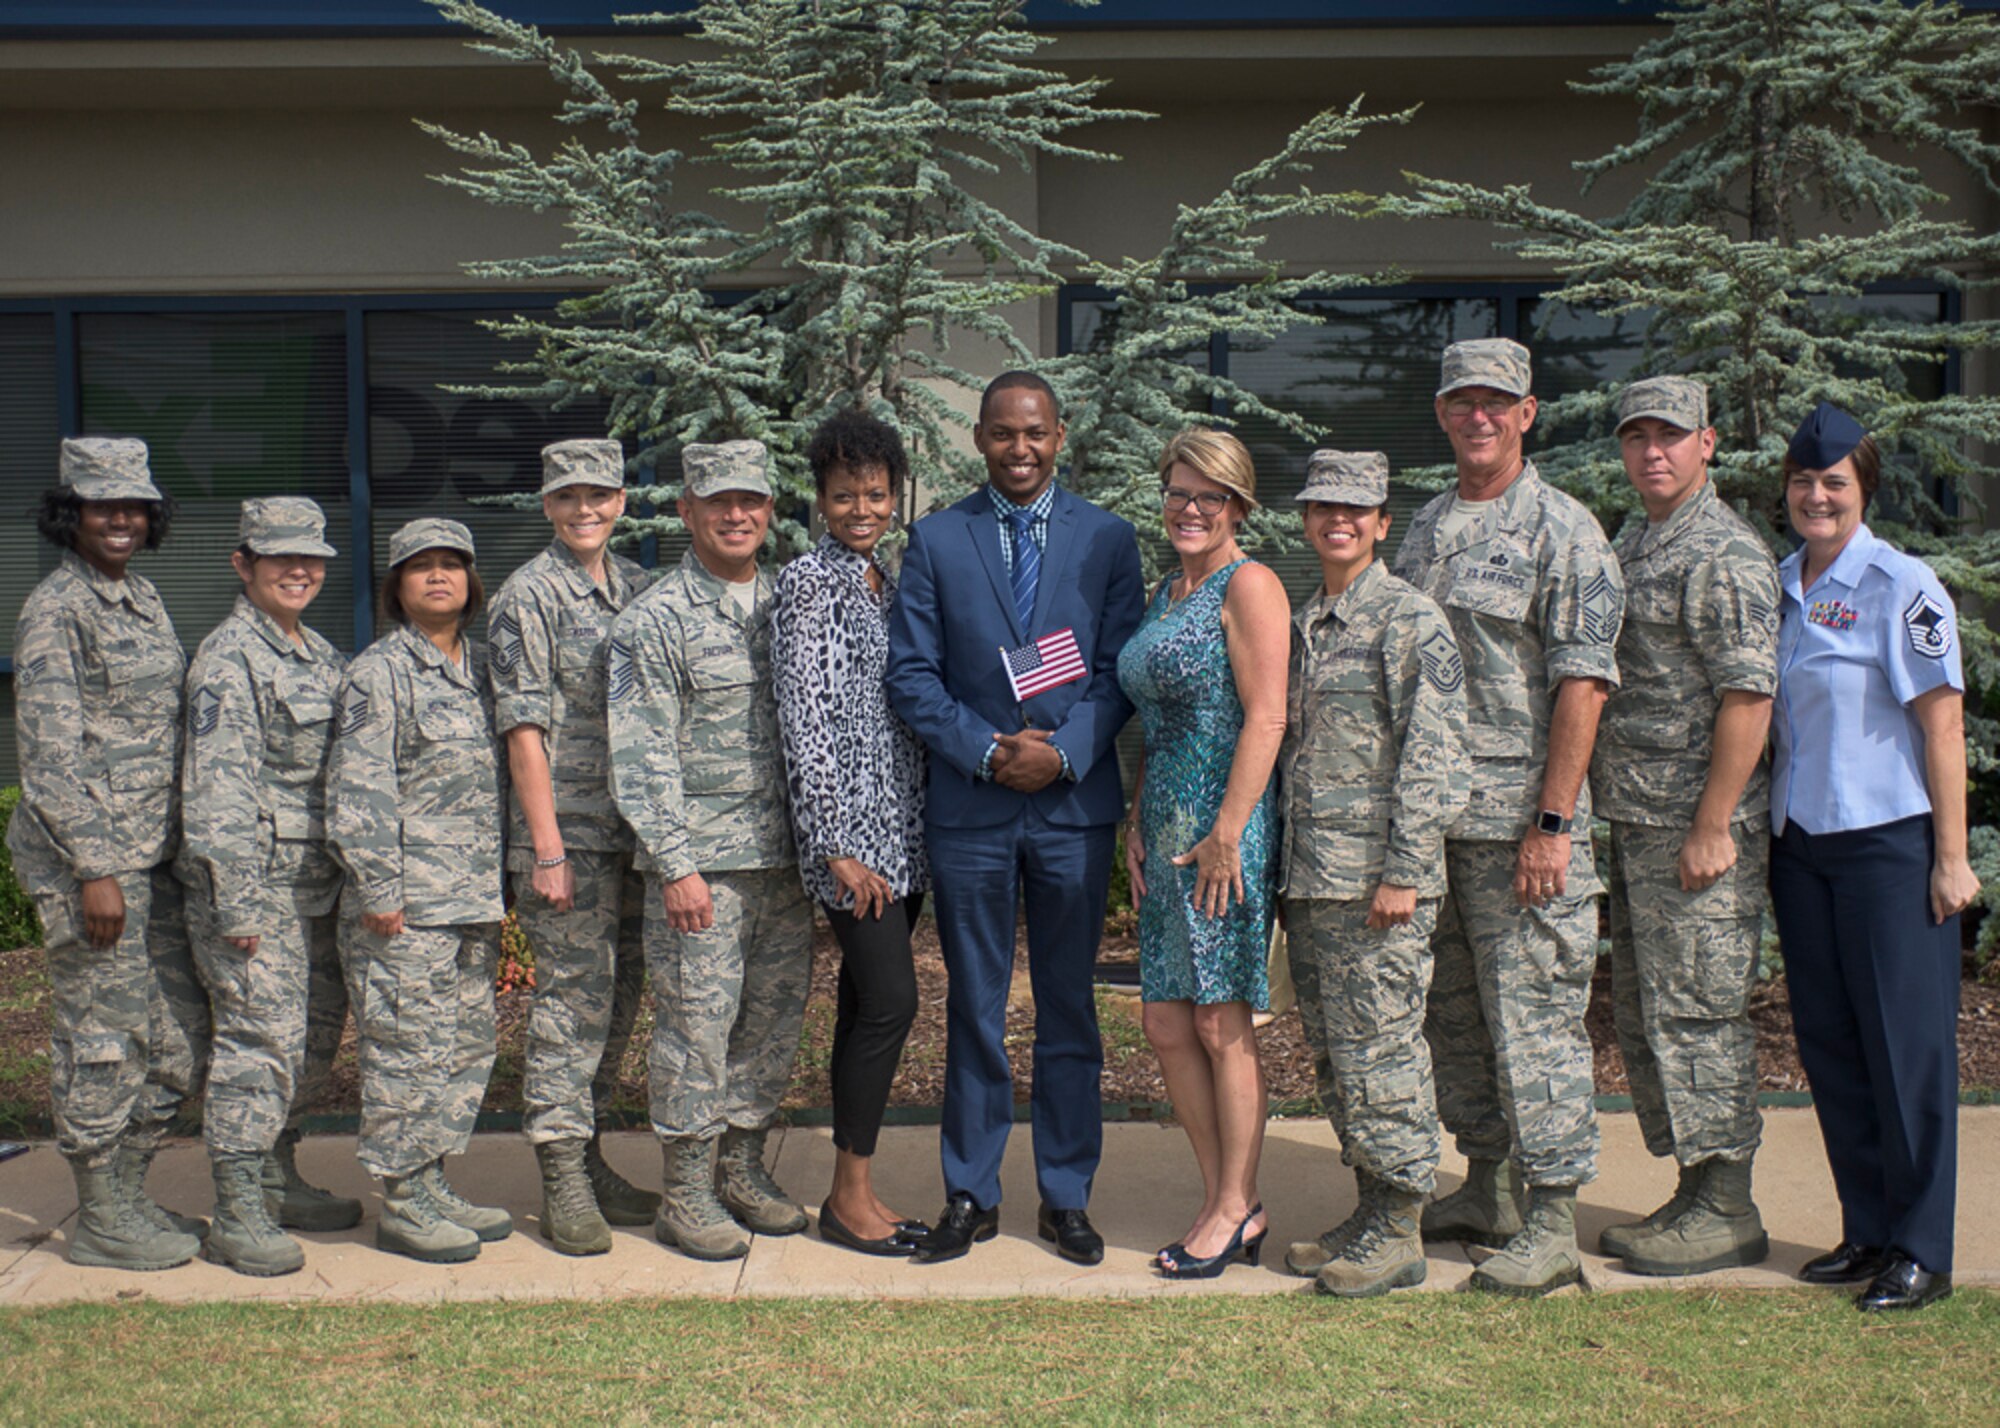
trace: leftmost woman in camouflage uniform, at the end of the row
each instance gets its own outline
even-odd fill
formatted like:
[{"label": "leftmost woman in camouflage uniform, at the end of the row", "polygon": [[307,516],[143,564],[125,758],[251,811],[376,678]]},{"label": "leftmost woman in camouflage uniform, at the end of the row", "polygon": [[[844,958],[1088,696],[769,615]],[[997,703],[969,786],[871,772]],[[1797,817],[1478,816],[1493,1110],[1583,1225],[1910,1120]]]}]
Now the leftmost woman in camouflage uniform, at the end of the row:
[{"label": "leftmost woman in camouflage uniform, at the end of the row", "polygon": [[186,656],[158,590],[126,568],[166,522],[144,442],[62,442],[40,516],[62,564],[14,628],[8,850],[42,914],[56,1148],[80,1204],[70,1260],[128,1270],[186,1264],[208,1230],[146,1194],[208,1064],[208,1000],[170,868]]}]

